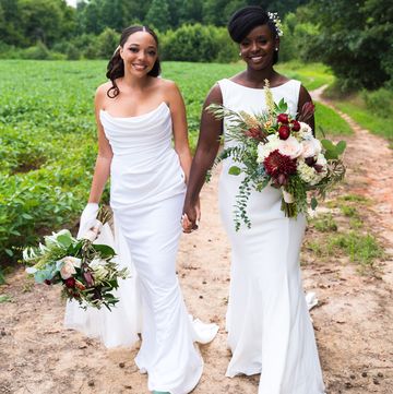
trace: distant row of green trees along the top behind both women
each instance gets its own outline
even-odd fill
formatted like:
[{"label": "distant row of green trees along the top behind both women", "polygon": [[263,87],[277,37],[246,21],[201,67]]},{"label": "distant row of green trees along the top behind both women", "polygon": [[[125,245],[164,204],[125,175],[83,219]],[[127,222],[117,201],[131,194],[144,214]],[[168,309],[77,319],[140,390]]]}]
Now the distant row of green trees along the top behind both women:
[{"label": "distant row of green trees along the top behind both women", "polygon": [[0,0],[0,40],[28,46],[37,39],[51,46],[59,38],[100,34],[131,24],[147,24],[159,32],[183,24],[225,26],[243,5],[259,4],[282,14],[307,0],[79,0],[76,8],[66,0]]}]

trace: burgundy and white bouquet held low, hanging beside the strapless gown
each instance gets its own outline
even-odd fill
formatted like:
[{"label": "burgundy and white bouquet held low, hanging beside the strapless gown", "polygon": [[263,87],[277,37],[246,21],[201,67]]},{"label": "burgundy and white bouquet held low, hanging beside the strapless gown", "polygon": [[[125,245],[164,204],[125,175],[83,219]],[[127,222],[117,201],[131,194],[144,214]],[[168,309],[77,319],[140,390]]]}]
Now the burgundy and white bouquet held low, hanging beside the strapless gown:
[{"label": "burgundy and white bouquet held low, hanging beside the strapless gown", "polygon": [[34,275],[36,283],[61,284],[62,296],[78,301],[83,309],[105,306],[110,310],[119,301],[112,291],[129,273],[114,261],[112,248],[93,243],[108,219],[108,213],[100,210],[95,226],[82,239],[63,229],[44,237],[44,243],[36,248],[25,248],[24,262],[34,263],[26,272]]}]

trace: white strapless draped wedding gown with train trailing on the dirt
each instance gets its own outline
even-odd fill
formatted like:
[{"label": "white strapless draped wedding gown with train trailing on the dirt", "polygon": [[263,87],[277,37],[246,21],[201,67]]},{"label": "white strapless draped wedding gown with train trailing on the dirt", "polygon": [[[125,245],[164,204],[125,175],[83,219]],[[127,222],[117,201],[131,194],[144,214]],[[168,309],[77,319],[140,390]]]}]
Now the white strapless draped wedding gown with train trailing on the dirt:
[{"label": "white strapless draped wedding gown with train trailing on the dirt", "polygon": [[189,317],[176,275],[186,184],[171,145],[170,110],[165,103],[129,118],[102,110],[100,121],[114,152],[115,240],[106,225],[97,242],[112,243],[132,277],[122,280],[111,312],[85,312],[69,302],[66,326],[99,337],[107,347],[131,346],[141,332],[135,362],[148,373],[148,390],[186,394],[203,369],[193,342],[209,343],[218,327]]}]

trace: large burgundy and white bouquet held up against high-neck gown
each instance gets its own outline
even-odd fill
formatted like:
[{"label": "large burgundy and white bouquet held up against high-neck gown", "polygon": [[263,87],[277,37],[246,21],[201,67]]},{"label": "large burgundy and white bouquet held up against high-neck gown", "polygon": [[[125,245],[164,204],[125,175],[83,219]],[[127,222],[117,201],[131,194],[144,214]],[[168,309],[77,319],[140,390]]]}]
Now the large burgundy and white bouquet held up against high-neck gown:
[{"label": "large burgundy and white bouquet held up against high-neck gown", "polygon": [[[334,144],[326,139],[314,138],[307,120],[314,111],[306,103],[296,118],[288,114],[284,99],[274,103],[265,81],[266,110],[261,114],[234,111],[225,106],[212,104],[207,107],[217,119],[225,119],[227,135],[233,144],[224,148],[216,164],[231,157],[235,164],[228,172],[243,175],[235,206],[235,227],[241,223],[251,227],[247,215],[247,203],[252,188],[262,191],[267,184],[282,191],[282,210],[287,217],[306,213],[308,206],[317,207],[318,198],[324,198],[345,175],[340,156],[346,143]],[[312,191],[308,200],[308,191]]]}]

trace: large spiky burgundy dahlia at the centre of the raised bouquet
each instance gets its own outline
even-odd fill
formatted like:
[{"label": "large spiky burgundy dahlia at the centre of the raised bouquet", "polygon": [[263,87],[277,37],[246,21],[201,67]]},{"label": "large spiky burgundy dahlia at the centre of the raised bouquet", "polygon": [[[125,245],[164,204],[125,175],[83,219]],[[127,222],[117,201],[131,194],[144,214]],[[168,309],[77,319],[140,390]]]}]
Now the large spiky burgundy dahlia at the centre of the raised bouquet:
[{"label": "large spiky burgundy dahlia at the centre of the raised bouquet", "polygon": [[278,150],[265,157],[263,165],[276,187],[287,184],[289,176],[296,172],[296,159],[281,154]]}]

